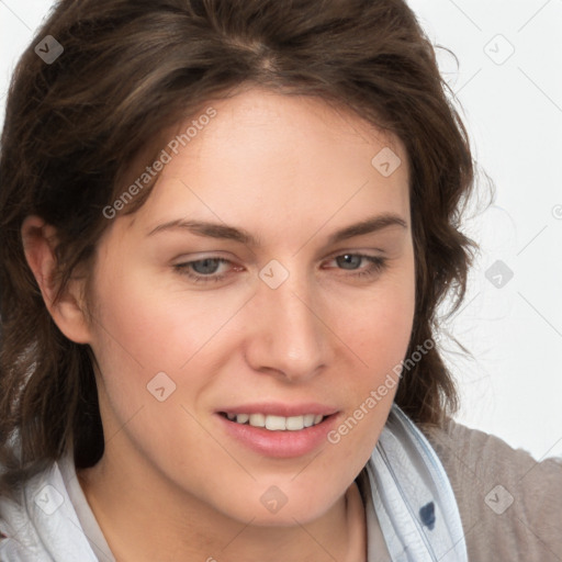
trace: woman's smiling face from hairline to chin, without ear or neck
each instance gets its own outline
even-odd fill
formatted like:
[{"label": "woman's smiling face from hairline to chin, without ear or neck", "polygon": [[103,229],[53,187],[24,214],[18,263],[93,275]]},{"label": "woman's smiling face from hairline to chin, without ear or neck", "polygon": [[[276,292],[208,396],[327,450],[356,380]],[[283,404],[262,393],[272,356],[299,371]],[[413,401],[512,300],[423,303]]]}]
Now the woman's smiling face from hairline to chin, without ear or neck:
[{"label": "woman's smiling face from hairline to chin, without ear or neck", "polygon": [[98,247],[104,460],[147,494],[306,522],[366,464],[396,391],[414,316],[406,154],[317,99],[252,89],[212,106],[186,146],[193,120],[170,133],[147,202]]}]

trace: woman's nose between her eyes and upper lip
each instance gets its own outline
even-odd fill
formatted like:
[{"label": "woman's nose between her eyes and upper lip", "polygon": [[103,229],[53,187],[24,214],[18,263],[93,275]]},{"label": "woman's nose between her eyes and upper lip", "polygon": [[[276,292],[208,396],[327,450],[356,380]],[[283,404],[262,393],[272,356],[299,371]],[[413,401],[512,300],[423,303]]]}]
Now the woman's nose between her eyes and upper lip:
[{"label": "woman's nose between her eyes and upper lip", "polygon": [[259,281],[251,300],[246,339],[246,360],[263,373],[288,381],[305,381],[330,361],[330,330],[323,316],[326,307],[313,280],[295,273],[277,289]]}]

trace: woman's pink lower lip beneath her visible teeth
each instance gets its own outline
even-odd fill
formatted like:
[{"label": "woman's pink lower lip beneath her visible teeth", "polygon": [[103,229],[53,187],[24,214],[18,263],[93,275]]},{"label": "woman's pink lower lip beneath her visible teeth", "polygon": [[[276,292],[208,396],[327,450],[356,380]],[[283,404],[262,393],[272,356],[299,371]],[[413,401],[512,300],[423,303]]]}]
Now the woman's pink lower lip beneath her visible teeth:
[{"label": "woman's pink lower lip beneath her visible teeth", "polygon": [[259,454],[286,459],[302,457],[327,442],[327,434],[336,425],[337,414],[325,417],[318,425],[297,431],[270,431],[248,424],[231,422],[216,414],[228,435]]}]

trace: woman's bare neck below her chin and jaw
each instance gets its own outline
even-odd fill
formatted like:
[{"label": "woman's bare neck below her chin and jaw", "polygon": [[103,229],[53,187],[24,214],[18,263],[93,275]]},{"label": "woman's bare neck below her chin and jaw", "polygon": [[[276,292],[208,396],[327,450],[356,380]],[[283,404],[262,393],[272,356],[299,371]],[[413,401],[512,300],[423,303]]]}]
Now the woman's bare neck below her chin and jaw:
[{"label": "woman's bare neck below her chin and jaw", "polygon": [[[233,519],[150,468],[127,470],[108,452],[79,482],[120,562],[201,560],[363,562],[364,512],[353,483],[314,521],[256,526]],[[143,467],[143,464],[140,464]]]}]

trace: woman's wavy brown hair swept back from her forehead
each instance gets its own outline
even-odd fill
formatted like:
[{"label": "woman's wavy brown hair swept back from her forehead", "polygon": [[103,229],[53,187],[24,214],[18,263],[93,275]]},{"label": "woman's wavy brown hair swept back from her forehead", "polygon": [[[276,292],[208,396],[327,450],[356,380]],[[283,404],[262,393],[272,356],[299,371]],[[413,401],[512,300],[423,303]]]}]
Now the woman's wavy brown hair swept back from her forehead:
[{"label": "woman's wavy brown hair swept back from her forehead", "polygon": [[[46,35],[64,47],[50,64],[33,48]],[[16,66],[1,139],[4,488],[69,446],[78,468],[95,464],[104,447],[91,350],[54,324],[24,257],[23,220],[36,214],[57,229],[60,294],[77,266],[91,266],[109,224],[103,209],[123,193],[135,158],[166,127],[241,85],[338,102],[402,139],[416,263],[407,357],[432,338],[450,290],[451,313],[460,305],[475,247],[459,231],[473,160],[435,50],[405,1],[60,0]],[[417,423],[456,411],[437,347],[404,372],[395,401]]]}]

